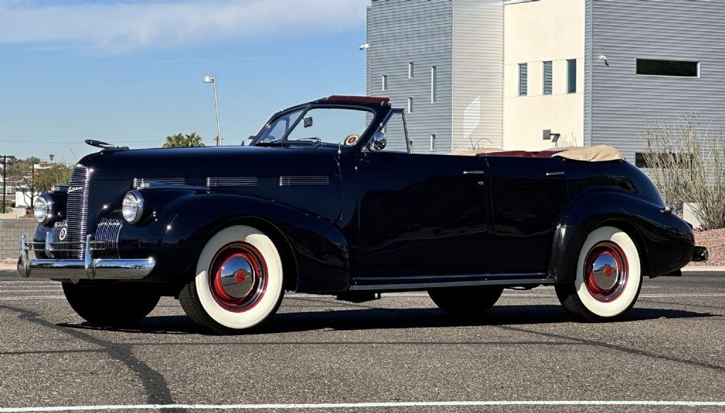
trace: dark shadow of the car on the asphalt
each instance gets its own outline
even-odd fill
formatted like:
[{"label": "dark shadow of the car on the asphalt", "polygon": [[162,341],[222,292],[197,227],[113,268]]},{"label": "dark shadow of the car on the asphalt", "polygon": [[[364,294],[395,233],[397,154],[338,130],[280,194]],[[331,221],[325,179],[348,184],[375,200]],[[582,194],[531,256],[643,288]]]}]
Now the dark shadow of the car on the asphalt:
[{"label": "dark shadow of the car on the asphalt", "polygon": [[[355,304],[353,304],[355,305]],[[481,317],[461,319],[442,310],[391,309],[357,305],[359,309],[329,309],[315,312],[284,312],[276,314],[268,325],[254,333],[294,333],[314,330],[376,330],[401,328],[450,328],[499,325],[544,325],[563,322],[578,322],[561,306],[494,306]],[[690,312],[679,309],[640,308],[631,311],[618,322],[640,322],[657,319],[684,319],[721,317],[708,312]],[[146,317],[137,325],[128,328],[98,328],[88,323],[61,323],[59,327],[83,330],[117,331],[122,333],[148,333],[186,335],[212,335],[198,328],[185,316]]]}]

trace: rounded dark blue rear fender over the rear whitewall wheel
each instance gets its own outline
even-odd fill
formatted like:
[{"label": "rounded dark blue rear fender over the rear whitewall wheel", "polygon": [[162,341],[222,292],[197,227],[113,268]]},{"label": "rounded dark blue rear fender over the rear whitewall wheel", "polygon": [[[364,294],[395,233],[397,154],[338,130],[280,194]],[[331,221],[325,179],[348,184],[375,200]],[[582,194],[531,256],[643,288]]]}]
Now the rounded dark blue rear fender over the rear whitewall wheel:
[{"label": "rounded dark blue rear fender over the rear whitewall wheel", "polygon": [[600,191],[574,200],[561,217],[550,262],[550,275],[557,283],[576,279],[587,235],[605,225],[628,233],[639,249],[642,273],[651,278],[679,270],[692,259],[695,238],[687,222],[637,196]]}]

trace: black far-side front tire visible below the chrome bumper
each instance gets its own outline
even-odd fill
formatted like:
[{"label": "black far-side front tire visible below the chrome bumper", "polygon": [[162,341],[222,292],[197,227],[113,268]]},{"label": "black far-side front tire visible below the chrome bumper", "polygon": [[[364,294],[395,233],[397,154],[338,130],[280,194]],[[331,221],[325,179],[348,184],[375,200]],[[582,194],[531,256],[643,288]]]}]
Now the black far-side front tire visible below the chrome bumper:
[{"label": "black far-side front tire visible below the chrome bumper", "polygon": [[130,283],[63,283],[68,304],[93,325],[124,327],[149,315],[161,295],[148,285]]}]

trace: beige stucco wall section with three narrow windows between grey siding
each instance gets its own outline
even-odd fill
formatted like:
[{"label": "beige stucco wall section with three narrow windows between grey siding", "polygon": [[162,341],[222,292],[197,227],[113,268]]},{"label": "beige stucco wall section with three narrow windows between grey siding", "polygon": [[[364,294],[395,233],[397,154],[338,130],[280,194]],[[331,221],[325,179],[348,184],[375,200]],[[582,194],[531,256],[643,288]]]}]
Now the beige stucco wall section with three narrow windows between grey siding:
[{"label": "beige stucco wall section with three narrow windows between grey siding", "polygon": [[[504,149],[584,144],[584,0],[539,0],[505,6]],[[566,93],[567,59],[576,62],[576,93]],[[544,61],[552,61],[552,95],[544,96]],[[528,96],[518,96],[518,64],[529,64]]]}]

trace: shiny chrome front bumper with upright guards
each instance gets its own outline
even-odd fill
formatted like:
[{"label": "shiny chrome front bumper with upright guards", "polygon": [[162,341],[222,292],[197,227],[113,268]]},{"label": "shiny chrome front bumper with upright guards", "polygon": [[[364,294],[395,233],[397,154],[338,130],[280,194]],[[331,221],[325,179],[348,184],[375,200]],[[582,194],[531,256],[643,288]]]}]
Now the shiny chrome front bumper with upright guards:
[{"label": "shiny chrome front bumper with upright guards", "polygon": [[[46,241],[46,246],[48,241]],[[47,247],[46,247],[47,248]],[[20,259],[17,272],[22,278],[55,278],[59,280],[138,280],[149,275],[156,262],[147,259],[93,259],[91,235],[86,236],[84,259],[28,259],[28,242],[20,238]]]}]

